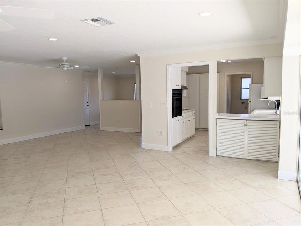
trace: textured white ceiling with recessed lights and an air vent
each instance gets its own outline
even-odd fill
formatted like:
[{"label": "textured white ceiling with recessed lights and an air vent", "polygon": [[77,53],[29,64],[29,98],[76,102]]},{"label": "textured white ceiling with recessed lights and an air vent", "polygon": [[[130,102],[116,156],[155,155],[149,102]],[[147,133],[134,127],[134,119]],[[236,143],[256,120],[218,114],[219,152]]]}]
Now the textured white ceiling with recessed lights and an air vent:
[{"label": "textured white ceiling with recessed lights and an air vent", "polygon": [[[136,53],[223,43],[281,42],[283,1],[7,1],[1,5],[53,9],[55,19],[1,16],[16,29],[0,34],[0,61],[57,66],[68,62],[104,73],[135,73]],[[199,12],[212,16],[200,17]],[[81,20],[104,17],[114,25]],[[275,38],[275,36],[277,38]],[[49,41],[55,37],[59,41]],[[130,60],[136,60],[130,63]]]}]

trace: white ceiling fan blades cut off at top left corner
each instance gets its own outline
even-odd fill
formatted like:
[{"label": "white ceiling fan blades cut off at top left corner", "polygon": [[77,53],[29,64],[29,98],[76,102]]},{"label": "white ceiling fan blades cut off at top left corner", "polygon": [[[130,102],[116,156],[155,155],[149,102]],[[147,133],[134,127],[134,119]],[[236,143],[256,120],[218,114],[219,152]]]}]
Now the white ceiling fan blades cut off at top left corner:
[{"label": "white ceiling fan blades cut off at top left corner", "polygon": [[[55,12],[52,9],[23,8],[13,6],[0,6],[0,16],[18,16],[29,18],[53,19]],[[0,31],[14,30],[15,27],[0,19]]]}]

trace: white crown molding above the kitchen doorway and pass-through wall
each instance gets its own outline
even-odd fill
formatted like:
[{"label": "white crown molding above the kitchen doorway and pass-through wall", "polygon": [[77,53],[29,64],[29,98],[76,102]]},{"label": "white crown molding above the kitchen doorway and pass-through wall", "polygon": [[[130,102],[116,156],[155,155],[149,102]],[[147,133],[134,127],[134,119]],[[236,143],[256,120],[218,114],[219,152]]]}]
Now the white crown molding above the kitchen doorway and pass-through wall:
[{"label": "white crown molding above the kitchen doorway and pass-through wall", "polygon": [[169,54],[176,54],[176,53],[198,52],[204,50],[227,49],[227,48],[242,47],[242,46],[257,46],[257,45],[277,44],[277,43],[282,43],[282,37],[281,38],[278,37],[275,39],[264,39],[264,40],[235,42],[235,43],[234,42],[220,43],[220,44],[213,44],[213,45],[194,46],[188,48],[142,52],[142,53],[137,53],[137,55],[140,57],[160,56],[160,55],[169,55]]}]

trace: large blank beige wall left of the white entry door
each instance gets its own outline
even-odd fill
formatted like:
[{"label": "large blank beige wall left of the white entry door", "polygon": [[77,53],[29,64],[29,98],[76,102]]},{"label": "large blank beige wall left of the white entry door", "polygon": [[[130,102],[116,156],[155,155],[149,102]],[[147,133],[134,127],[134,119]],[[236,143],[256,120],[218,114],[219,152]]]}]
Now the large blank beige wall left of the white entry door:
[{"label": "large blank beige wall left of the white entry door", "polygon": [[0,144],[84,126],[82,71],[5,64],[0,71]]}]

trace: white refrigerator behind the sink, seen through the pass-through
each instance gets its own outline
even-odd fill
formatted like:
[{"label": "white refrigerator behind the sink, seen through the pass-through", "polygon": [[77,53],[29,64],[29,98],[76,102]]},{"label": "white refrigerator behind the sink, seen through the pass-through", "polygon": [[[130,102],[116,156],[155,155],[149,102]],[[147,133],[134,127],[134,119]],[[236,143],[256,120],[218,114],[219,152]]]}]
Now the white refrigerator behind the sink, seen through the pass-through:
[{"label": "white refrigerator behind the sink, seen through the pass-through", "polygon": [[268,105],[270,100],[261,99],[263,84],[249,84],[249,114],[256,108],[275,108],[274,104]]}]

